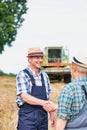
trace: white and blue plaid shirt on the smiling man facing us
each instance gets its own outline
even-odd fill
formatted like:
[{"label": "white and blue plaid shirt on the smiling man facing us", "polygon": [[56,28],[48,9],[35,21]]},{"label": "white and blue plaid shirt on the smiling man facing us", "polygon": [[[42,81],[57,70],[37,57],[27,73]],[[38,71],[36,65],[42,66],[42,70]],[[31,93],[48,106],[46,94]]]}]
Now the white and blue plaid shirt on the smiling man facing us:
[{"label": "white and blue plaid shirt on the smiling man facing us", "polygon": [[[33,75],[36,85],[42,85],[41,75],[39,76],[36,75],[36,73],[32,71],[29,67],[27,67],[26,69],[29,71],[31,75]],[[45,87],[46,87],[46,94],[47,94],[47,98],[49,99],[49,94],[51,92],[51,89],[50,89],[50,81],[49,81],[48,75],[42,70],[40,73],[43,74]],[[20,94],[23,92],[30,94],[31,91],[32,91],[31,79],[27,75],[27,73],[25,73],[22,70],[16,76],[16,103],[18,104],[18,106],[21,106],[24,103]]]}]

